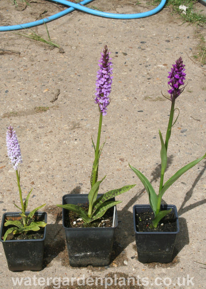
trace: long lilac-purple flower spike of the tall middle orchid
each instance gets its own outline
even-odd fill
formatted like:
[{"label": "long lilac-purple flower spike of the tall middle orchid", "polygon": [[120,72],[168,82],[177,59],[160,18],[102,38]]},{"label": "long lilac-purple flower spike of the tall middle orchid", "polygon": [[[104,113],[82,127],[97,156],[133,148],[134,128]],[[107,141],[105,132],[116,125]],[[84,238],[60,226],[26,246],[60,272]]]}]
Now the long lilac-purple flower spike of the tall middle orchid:
[{"label": "long lilac-purple flower spike of the tall middle orchid", "polygon": [[111,92],[111,83],[112,83],[112,69],[111,68],[111,58],[109,58],[109,51],[107,46],[104,46],[102,57],[100,59],[99,67],[100,70],[97,72],[96,80],[96,97],[95,103],[98,103],[100,111],[103,115],[106,115],[107,105],[109,104],[109,94]]}]

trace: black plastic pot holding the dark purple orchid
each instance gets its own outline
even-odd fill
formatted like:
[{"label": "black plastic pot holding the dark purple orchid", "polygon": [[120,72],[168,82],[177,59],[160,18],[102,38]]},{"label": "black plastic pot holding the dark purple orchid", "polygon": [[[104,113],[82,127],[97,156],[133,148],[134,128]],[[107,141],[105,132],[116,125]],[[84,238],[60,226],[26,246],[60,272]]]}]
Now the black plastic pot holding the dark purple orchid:
[{"label": "black plastic pot holding the dark purple orchid", "polygon": [[133,221],[135,239],[137,245],[138,260],[141,263],[170,263],[172,262],[173,250],[177,233],[179,232],[179,220],[177,208],[174,205],[162,205],[161,210],[172,209],[176,221],[175,232],[139,232],[136,215],[144,212],[152,212],[150,205],[135,205],[133,207]]}]

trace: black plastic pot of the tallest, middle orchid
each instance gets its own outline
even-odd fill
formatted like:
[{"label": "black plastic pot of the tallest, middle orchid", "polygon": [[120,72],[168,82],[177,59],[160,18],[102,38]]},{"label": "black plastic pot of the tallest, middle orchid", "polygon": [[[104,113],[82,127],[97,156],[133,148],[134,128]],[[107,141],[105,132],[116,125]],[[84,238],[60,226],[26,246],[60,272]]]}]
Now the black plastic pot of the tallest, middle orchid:
[{"label": "black plastic pot of the tallest, middle orchid", "polygon": [[[101,194],[98,195],[98,197],[100,196]],[[88,194],[64,195],[62,201],[63,205],[85,204],[88,202]],[[63,227],[65,229],[69,264],[71,266],[109,265],[114,241],[114,231],[118,224],[116,210],[114,212],[113,227],[70,228],[65,226],[65,216],[68,214],[68,210],[63,209]]]}]

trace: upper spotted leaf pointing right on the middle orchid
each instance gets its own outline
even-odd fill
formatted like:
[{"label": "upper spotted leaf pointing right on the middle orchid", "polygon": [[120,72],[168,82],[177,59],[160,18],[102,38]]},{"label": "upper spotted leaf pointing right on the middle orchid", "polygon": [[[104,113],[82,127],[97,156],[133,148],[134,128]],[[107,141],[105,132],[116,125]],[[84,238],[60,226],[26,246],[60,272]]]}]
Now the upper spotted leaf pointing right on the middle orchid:
[{"label": "upper spotted leaf pointing right on the middle orchid", "polygon": [[95,202],[94,208],[92,211],[92,215],[95,213],[96,210],[98,210],[102,206],[102,204],[104,202],[106,202],[106,201],[110,200],[111,198],[114,198],[120,194],[123,194],[123,193],[129,191],[130,189],[132,189],[135,186],[136,185],[128,185],[128,186],[124,186],[120,189],[112,190],[112,191],[109,191],[109,192],[103,194],[103,196],[98,198],[97,201]]}]

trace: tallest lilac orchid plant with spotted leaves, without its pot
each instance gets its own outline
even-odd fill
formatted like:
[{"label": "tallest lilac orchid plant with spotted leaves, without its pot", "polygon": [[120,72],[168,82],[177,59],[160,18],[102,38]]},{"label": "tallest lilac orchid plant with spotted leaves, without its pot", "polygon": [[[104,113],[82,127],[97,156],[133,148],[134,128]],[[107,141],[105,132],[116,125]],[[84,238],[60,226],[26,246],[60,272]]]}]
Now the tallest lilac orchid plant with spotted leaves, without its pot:
[{"label": "tallest lilac orchid plant with spotted leaves, without its pot", "polygon": [[114,197],[127,192],[135,185],[124,186],[120,189],[112,190],[104,193],[101,197],[98,198],[98,192],[100,184],[103,182],[104,178],[98,181],[98,169],[99,169],[99,160],[100,155],[103,149],[103,145],[100,147],[100,138],[102,131],[102,121],[103,116],[107,113],[107,106],[110,103],[109,94],[111,92],[111,83],[112,83],[112,63],[111,58],[109,58],[109,51],[107,46],[105,45],[103,48],[103,53],[101,53],[102,57],[99,61],[100,70],[97,72],[97,80],[96,80],[96,98],[95,102],[99,105],[100,119],[99,119],[99,129],[98,129],[98,137],[97,144],[95,145],[92,139],[92,144],[95,149],[95,160],[93,162],[92,173],[91,173],[91,190],[88,195],[89,208],[85,211],[82,207],[73,205],[73,204],[65,204],[65,205],[57,205],[58,207],[70,210],[79,215],[85,223],[90,223],[96,219],[102,217],[109,208],[114,207],[115,205],[121,203],[121,201],[115,201]]}]

